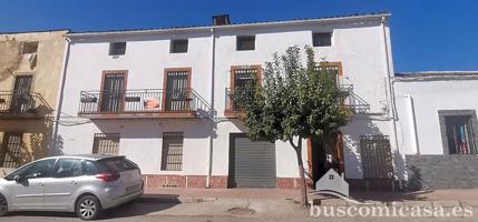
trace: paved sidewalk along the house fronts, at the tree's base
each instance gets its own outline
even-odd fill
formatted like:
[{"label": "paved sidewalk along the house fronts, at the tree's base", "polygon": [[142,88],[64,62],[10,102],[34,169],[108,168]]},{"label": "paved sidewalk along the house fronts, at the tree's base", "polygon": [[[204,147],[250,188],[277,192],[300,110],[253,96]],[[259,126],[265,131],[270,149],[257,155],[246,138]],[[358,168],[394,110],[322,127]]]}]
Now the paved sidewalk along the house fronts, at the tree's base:
[{"label": "paved sidewalk along the house fronts, at the tree's base", "polygon": [[[390,205],[430,205],[455,206],[467,204],[478,206],[477,189],[430,190],[420,192],[351,192],[350,196],[359,202]],[[309,200],[320,200],[322,205],[351,205],[345,200],[334,196],[309,194]],[[143,201],[159,201],[169,203],[194,203],[213,201],[289,201],[297,203],[297,190],[276,189],[147,189]],[[318,202],[316,202],[318,203]]]}]

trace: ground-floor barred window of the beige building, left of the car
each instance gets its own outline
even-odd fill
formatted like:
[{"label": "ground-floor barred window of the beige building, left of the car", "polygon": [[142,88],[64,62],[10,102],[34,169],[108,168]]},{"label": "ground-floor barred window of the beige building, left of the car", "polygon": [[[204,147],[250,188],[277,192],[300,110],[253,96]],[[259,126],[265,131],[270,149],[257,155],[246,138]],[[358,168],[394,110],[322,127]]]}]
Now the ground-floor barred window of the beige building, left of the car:
[{"label": "ground-floor barred window of the beige building, left of the car", "polygon": [[22,138],[22,133],[4,133],[0,152],[0,165],[2,168],[20,167]]}]

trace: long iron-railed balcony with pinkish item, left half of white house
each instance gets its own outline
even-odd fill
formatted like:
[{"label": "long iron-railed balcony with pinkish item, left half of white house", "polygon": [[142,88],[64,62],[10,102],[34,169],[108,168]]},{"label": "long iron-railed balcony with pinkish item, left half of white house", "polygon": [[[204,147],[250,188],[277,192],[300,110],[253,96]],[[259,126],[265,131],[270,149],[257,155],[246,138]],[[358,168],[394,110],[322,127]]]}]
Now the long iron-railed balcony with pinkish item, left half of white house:
[{"label": "long iron-railed balcony with pinkish item, left half of white house", "polygon": [[81,91],[78,115],[87,119],[211,119],[214,112],[194,90],[142,89]]}]

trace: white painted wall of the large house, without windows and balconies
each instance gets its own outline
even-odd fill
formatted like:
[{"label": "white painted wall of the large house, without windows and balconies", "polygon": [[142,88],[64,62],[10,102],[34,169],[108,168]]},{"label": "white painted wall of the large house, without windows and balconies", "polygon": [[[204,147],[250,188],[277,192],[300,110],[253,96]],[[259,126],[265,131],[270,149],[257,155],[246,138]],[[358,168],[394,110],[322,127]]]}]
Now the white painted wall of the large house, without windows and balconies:
[{"label": "white painted wall of the large house, without windows and balconies", "polygon": [[[62,117],[58,128],[61,151],[90,153],[94,133],[120,133],[119,153],[137,162],[144,174],[227,176],[230,133],[247,131],[237,119],[225,117],[225,89],[231,84],[232,67],[264,67],[274,52],[282,53],[291,46],[312,46],[313,32],[332,32],[332,46],[314,48],[315,56],[329,62],[340,62],[343,71],[341,82],[353,84],[354,94],[369,105],[367,112],[355,114],[342,130],[345,176],[362,179],[360,135],[389,135],[393,155],[401,157],[396,148],[391,121],[393,105],[388,80],[390,73],[393,73],[393,65],[388,17],[389,14],[367,14],[68,34],[70,51],[65,73]],[[255,50],[237,51],[237,36],[255,36]],[[187,53],[169,53],[172,39],[188,39]],[[126,53],[108,56],[110,42],[121,41],[127,42]],[[191,88],[207,103],[214,104],[217,113],[214,118],[90,120],[78,117],[80,92],[100,90],[104,71],[127,70],[127,90],[163,89],[165,69],[170,68],[191,68]],[[184,133],[181,171],[160,170],[163,132]],[[299,178],[295,153],[289,143],[277,141],[275,149],[276,176]],[[305,164],[308,150],[303,150]],[[400,165],[396,167],[396,179],[402,178],[401,169]]]}]

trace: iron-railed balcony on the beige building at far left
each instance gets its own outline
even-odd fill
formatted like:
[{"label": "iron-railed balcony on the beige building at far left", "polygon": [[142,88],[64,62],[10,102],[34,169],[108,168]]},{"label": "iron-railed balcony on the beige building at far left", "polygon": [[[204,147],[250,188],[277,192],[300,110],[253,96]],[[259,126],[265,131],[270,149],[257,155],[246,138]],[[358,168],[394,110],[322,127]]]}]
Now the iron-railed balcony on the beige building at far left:
[{"label": "iron-railed balcony on the beige building at far left", "polygon": [[0,119],[41,119],[51,110],[39,93],[0,91]]}]

